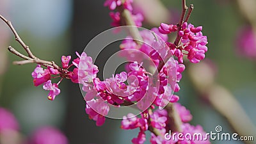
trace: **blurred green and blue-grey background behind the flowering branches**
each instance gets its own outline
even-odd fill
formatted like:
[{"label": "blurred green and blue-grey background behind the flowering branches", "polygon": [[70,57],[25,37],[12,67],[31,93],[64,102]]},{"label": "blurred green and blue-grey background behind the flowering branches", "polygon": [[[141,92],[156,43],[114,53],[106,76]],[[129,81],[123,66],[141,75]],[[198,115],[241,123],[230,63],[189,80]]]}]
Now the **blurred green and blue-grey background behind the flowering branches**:
[{"label": "blurred green and blue-grey background behind the flowering branches", "polygon": [[[171,21],[176,23],[175,17],[179,17],[181,2],[162,2],[170,10],[171,15],[173,14],[170,17]],[[75,56],[76,51],[83,51],[94,36],[111,28],[109,10],[103,6],[103,0],[6,0],[1,3],[6,4],[6,8],[0,10],[1,14],[8,15],[31,51],[39,58],[54,60],[56,63],[60,63],[62,55]],[[237,4],[234,1],[216,0],[195,0],[188,1],[189,3],[195,6],[189,22],[195,26],[204,26],[203,32],[209,42],[206,57],[216,64],[216,81],[232,92],[256,124],[256,61],[241,58],[236,54],[236,33],[246,24]],[[11,33],[3,22],[0,23],[1,31]],[[152,27],[147,23],[145,26]],[[3,34],[0,35],[2,38]],[[4,57],[3,60],[0,58],[0,63],[3,64],[3,72],[0,73],[0,106],[14,113],[23,134],[28,135],[42,125],[55,125],[65,132],[71,144],[131,143],[131,139],[137,136],[137,131],[120,129],[120,120],[108,118],[106,124],[97,127],[84,111],[85,103],[77,84],[63,81],[60,85],[61,94],[56,100],[47,100],[47,92],[42,90],[42,86],[33,86],[31,72],[36,65],[12,65],[12,61],[20,58],[10,54],[6,47],[12,45],[19,50],[22,48],[15,42],[13,35],[6,36],[10,41],[6,40],[0,44],[1,53],[8,56],[5,59],[6,65]],[[191,124],[200,124],[207,132],[213,131],[216,125],[221,125],[224,131],[232,132],[225,118],[198,97],[187,71],[183,74],[180,87],[180,103],[191,111]],[[148,139],[149,137],[147,143]]]}]

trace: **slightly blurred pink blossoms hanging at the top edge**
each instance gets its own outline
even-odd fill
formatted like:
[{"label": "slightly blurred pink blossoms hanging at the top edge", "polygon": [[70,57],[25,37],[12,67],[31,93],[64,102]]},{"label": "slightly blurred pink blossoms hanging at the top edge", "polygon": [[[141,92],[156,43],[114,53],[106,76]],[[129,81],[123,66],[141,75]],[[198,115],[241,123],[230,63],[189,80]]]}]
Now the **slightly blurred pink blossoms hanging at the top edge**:
[{"label": "slightly blurred pink blossoms hanging at the top edge", "polygon": [[[117,10],[118,12],[110,12],[109,15],[113,22],[112,26],[122,26],[122,9],[128,10],[131,13],[131,17],[135,22],[136,26],[142,26],[143,15],[141,13],[132,13],[132,0],[125,0],[122,2],[121,0],[106,0],[104,6],[108,6],[109,10]],[[123,20],[124,21],[124,20]]]}]

